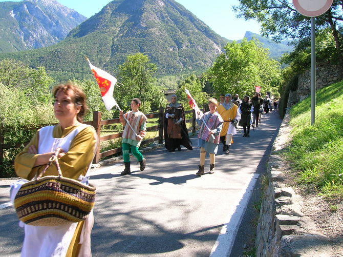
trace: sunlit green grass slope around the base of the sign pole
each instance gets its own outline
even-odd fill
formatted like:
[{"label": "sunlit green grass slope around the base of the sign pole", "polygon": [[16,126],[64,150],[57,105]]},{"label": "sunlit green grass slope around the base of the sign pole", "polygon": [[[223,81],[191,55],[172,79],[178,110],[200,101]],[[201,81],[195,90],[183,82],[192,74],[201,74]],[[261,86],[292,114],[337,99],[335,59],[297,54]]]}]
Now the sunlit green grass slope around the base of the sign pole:
[{"label": "sunlit green grass slope around the base of the sign pole", "polygon": [[283,152],[298,171],[299,185],[328,198],[343,198],[343,81],[316,92],[315,124],[311,97],[290,111],[292,141]]}]

